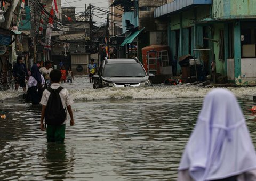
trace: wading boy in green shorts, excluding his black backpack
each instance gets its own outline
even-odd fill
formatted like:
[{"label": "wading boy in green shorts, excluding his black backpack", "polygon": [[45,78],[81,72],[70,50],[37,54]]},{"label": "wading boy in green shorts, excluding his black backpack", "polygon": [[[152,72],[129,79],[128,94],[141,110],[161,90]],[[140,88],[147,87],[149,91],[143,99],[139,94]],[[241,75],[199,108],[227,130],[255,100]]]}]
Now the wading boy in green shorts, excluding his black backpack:
[{"label": "wading boy in green shorts, excluding his black backpack", "polygon": [[[50,78],[52,81],[51,88],[53,90],[57,90],[60,87],[60,80],[61,80],[61,72],[58,69],[53,69],[50,73]],[[43,92],[43,96],[41,99],[40,104],[42,104],[42,112],[41,112],[41,122],[40,122],[40,127],[41,130],[45,130],[43,120],[45,117],[45,110],[46,110],[46,105],[50,97],[50,91],[45,90]],[[61,102],[63,105],[63,108],[66,106],[69,116],[70,116],[70,126],[74,125],[74,119],[73,119],[73,112],[71,109],[71,104],[73,104],[72,98],[69,96],[68,90],[66,88],[61,89],[59,92]],[[66,129],[66,120],[61,124],[61,125],[47,125],[47,142],[56,142],[56,143],[63,143],[65,139],[65,129]]]}]

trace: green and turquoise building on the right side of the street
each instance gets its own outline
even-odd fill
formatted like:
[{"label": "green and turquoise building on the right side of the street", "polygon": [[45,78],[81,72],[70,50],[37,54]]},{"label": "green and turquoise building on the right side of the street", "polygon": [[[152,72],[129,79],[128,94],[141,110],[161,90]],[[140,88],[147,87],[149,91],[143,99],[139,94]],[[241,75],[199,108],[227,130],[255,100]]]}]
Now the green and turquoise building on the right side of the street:
[{"label": "green and turquoise building on the right side of the street", "polygon": [[[167,21],[171,59],[201,60],[205,75],[212,71],[236,85],[256,85],[256,2],[241,0],[174,0],[154,10]],[[211,67],[211,65],[213,65]]]}]

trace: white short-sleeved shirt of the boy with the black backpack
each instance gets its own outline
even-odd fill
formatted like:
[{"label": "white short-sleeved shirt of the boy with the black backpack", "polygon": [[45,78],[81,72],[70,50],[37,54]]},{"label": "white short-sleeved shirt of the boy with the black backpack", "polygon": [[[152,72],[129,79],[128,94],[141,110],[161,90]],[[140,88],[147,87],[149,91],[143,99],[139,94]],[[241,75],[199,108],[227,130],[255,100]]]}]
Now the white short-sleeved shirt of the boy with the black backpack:
[{"label": "white short-sleeved shirt of the boy with the black backpack", "polygon": [[[51,85],[51,88],[52,89],[58,89],[60,87],[60,84],[59,83],[52,83]],[[50,92],[45,89],[44,92],[43,92],[43,95],[42,95],[42,98],[41,98],[41,101],[40,101],[40,104],[42,105],[47,105],[47,102],[48,102],[48,99],[49,99],[49,96],[50,96]],[[66,88],[63,88],[61,91],[60,91],[60,98],[61,98],[61,102],[62,102],[62,105],[63,105],[63,108],[65,108],[66,106],[69,106],[71,104],[74,103],[73,99],[70,97],[69,93],[68,93],[68,90]],[[63,124],[66,123],[66,120]]]}]

